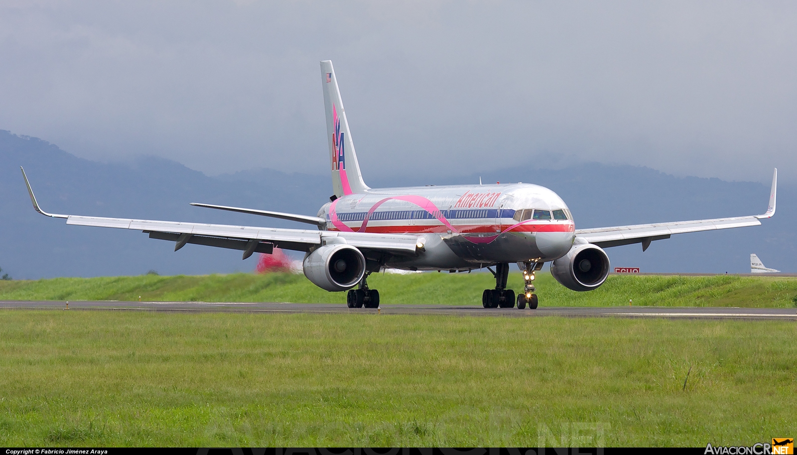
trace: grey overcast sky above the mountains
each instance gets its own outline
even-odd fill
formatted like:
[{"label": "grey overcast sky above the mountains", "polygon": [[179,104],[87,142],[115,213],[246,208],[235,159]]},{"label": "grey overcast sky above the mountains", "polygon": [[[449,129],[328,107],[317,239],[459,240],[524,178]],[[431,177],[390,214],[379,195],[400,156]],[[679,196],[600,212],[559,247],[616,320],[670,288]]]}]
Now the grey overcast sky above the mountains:
[{"label": "grey overcast sky above the mountains", "polygon": [[[210,175],[601,161],[797,181],[795,2],[0,2],[0,129]],[[529,179],[532,181],[533,179]]]}]

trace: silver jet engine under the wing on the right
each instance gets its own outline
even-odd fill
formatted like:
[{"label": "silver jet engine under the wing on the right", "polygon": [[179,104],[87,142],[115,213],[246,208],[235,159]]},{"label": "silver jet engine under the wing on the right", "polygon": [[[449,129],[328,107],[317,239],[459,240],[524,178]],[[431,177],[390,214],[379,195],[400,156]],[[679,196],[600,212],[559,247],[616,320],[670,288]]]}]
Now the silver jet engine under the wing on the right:
[{"label": "silver jet engine under the wing on the right", "polygon": [[609,276],[609,256],[591,243],[573,245],[567,255],[551,263],[551,274],[571,290],[594,290]]}]

